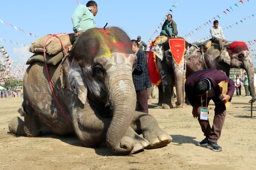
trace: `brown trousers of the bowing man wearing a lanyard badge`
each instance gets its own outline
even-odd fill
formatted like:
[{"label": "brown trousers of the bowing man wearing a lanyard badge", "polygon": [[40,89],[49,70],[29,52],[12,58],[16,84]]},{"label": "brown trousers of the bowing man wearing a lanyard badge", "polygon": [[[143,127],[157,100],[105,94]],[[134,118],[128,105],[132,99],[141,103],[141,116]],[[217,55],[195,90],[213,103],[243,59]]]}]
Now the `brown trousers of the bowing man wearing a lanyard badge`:
[{"label": "brown trousers of the bowing man wearing a lanyard badge", "polygon": [[[196,108],[197,108],[197,117],[198,117],[198,122],[202,128],[202,131],[204,132],[204,136],[208,138],[210,142],[216,142],[220,138],[221,134],[221,129],[224,125],[225,117],[226,117],[226,106],[225,103],[220,101],[219,97],[208,97],[207,99],[207,107],[208,104],[212,100],[215,104],[215,109],[214,109],[214,118],[213,118],[213,124],[212,128],[210,126],[209,119],[206,120],[200,120],[200,109],[202,108],[202,104],[197,103]],[[206,103],[203,103],[203,107],[206,106]],[[209,116],[209,111],[208,111],[208,116]]]}]

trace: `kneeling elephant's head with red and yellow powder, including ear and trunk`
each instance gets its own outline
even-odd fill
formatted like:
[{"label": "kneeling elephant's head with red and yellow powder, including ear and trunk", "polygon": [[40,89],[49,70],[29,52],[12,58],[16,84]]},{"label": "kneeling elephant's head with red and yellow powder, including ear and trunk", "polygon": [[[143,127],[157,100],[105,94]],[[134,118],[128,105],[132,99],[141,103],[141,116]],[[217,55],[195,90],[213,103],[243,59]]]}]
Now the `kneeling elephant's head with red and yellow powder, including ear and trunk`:
[{"label": "kneeling elephant's head with red and yellow powder, including ear and trunk", "polygon": [[115,152],[126,153],[127,149],[120,146],[120,140],[136,106],[132,81],[135,61],[130,38],[120,28],[110,27],[87,30],[61,63],[62,87],[74,92],[83,104],[89,100],[111,108],[106,140]]}]

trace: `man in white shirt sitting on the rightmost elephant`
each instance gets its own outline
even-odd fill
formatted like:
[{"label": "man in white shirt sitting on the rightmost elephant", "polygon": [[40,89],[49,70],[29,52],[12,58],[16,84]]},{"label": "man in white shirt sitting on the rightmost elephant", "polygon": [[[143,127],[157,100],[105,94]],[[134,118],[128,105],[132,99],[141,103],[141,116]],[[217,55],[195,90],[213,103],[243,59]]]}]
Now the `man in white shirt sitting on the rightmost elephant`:
[{"label": "man in white shirt sitting on the rightmost elephant", "polygon": [[210,29],[210,33],[212,36],[212,42],[216,42],[219,44],[220,50],[223,49],[223,42],[225,42],[225,37],[222,31],[222,28],[219,26],[219,21],[213,21],[213,26]]}]

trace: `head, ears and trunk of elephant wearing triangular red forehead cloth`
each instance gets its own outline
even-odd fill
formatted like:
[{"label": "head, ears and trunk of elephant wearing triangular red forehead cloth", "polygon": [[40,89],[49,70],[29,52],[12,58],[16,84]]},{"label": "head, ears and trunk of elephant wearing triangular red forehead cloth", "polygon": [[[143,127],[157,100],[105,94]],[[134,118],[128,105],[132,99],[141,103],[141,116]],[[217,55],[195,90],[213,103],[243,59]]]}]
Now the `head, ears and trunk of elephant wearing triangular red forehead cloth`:
[{"label": "head, ears and trunk of elephant wearing triangular red forehead cloth", "polygon": [[[171,38],[171,39],[175,40],[175,39],[181,39],[181,38]],[[153,51],[161,61],[166,61],[164,62],[164,65],[167,65],[169,68],[168,69],[169,72],[172,72],[171,74],[174,75],[175,87],[176,87],[176,93],[177,93],[176,106],[180,106],[183,98],[182,91],[184,90],[184,83],[185,83],[186,60],[190,56],[193,56],[196,54],[197,46],[193,44],[189,44],[187,41],[182,39],[183,42],[185,43],[184,44],[185,48],[183,52],[184,57],[180,61],[180,63],[178,63],[177,60],[174,60],[173,58],[172,52],[170,50],[169,40],[164,43],[156,44],[151,51]],[[159,69],[159,72],[161,72],[160,69]],[[161,77],[163,79],[163,75],[161,75]],[[163,85],[164,85],[164,82],[163,82]]]}]

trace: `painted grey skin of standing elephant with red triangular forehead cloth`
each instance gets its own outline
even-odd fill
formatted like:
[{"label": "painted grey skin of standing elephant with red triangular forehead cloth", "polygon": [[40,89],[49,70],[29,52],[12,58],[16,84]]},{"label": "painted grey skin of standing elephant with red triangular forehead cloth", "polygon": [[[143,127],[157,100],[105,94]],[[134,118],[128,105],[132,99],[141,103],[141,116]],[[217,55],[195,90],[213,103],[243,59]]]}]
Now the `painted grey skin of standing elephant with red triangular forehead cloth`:
[{"label": "painted grey skin of standing elephant with red triangular forehead cloth", "polygon": [[[157,56],[157,65],[163,85],[164,97],[159,96],[158,106],[162,106],[164,109],[173,108],[174,97],[173,97],[173,86],[176,87],[177,101],[175,103],[176,107],[186,107],[185,104],[185,74],[186,74],[186,62],[190,56],[196,54],[197,47],[186,42],[184,58],[178,65],[170,51],[169,41],[164,43],[156,44],[151,51],[153,51]],[[162,88],[159,88],[161,91]],[[163,101],[163,104],[160,101]]]}]

